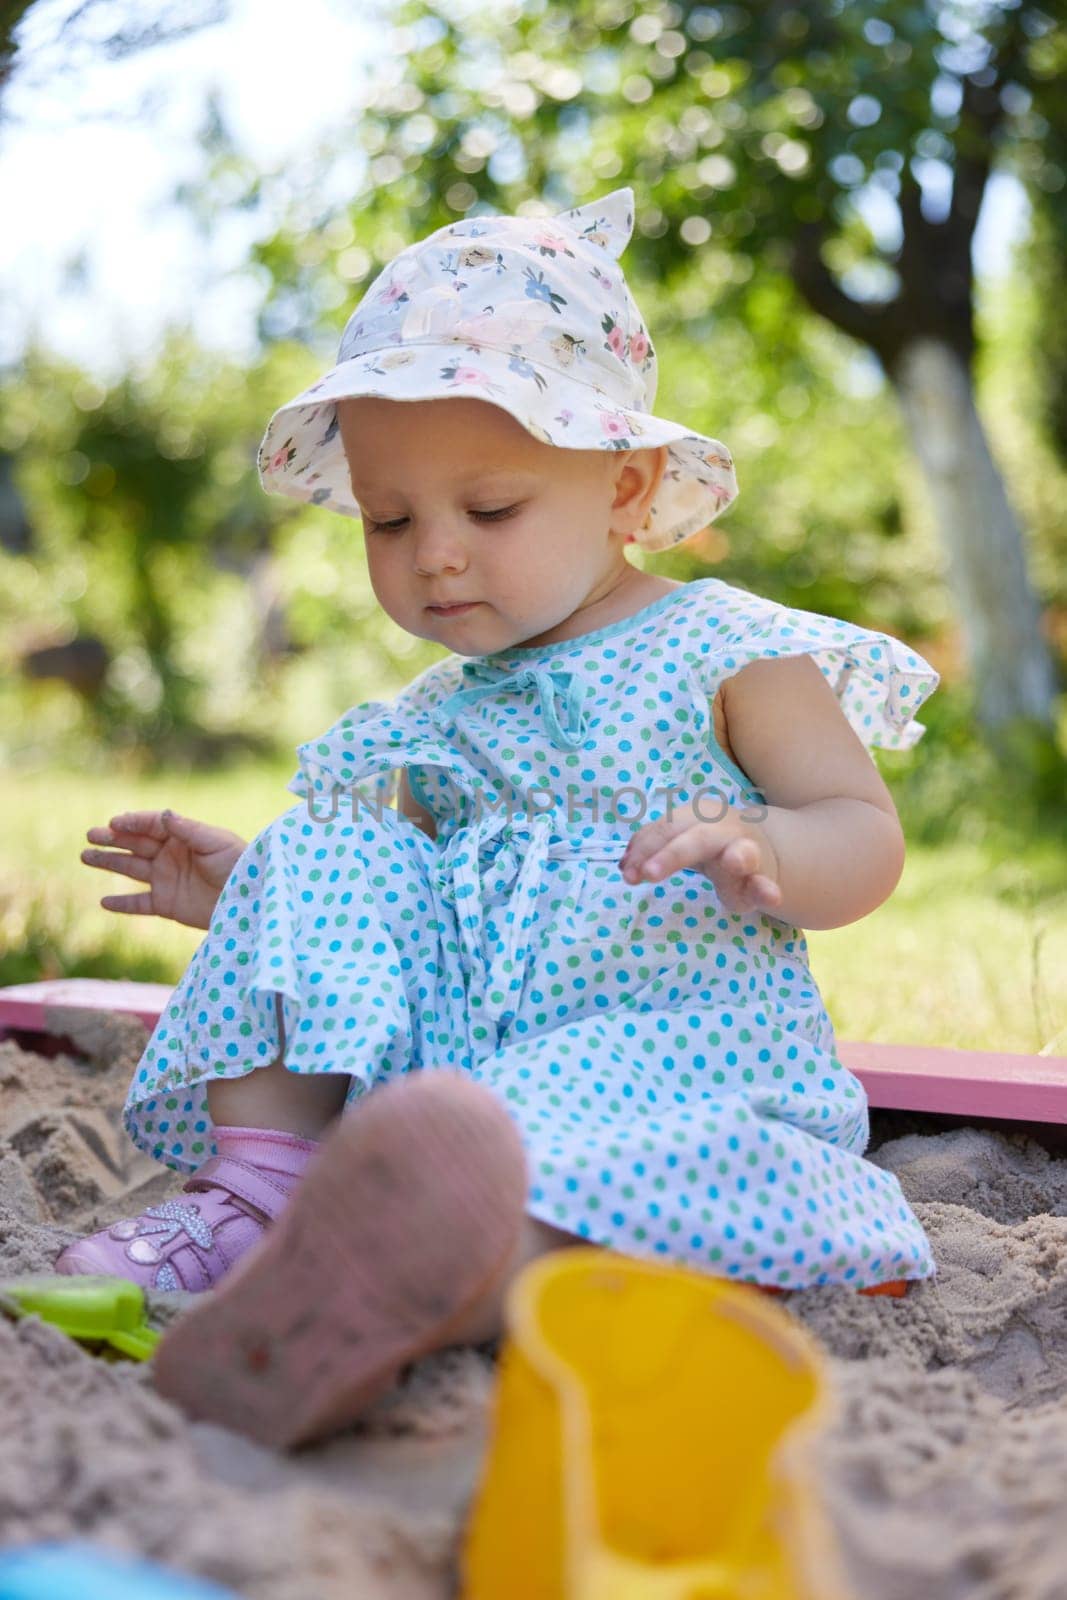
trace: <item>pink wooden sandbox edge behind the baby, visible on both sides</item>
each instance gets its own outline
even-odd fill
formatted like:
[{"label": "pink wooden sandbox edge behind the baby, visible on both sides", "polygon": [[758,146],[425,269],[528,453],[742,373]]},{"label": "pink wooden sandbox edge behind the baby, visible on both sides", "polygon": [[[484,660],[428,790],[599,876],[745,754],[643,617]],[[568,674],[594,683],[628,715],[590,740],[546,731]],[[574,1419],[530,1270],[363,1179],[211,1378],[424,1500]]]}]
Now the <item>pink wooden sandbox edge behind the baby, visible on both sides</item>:
[{"label": "pink wooden sandbox edge behind the baby, visible on both sides", "polygon": [[[126,1011],[155,1027],[171,997],[166,984],[104,978],[59,978],[0,989],[5,1029],[56,1032],[56,1011]],[[48,1014],[51,1013],[51,1016]],[[992,1050],[837,1042],[838,1059],[854,1072],[873,1107],[929,1110],[1011,1122],[1067,1123],[1067,1058],[1013,1056]]]}]

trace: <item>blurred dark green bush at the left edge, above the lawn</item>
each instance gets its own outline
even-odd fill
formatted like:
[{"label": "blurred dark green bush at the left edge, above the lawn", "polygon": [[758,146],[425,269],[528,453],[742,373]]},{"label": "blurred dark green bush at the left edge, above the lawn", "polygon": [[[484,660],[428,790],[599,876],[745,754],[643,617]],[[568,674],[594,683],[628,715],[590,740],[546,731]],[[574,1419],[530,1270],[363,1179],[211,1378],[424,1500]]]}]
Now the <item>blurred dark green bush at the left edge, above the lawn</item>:
[{"label": "blurred dark green bush at the left edge, above the lawn", "polygon": [[190,666],[189,646],[221,574],[256,590],[251,613],[274,603],[262,566],[274,518],[250,470],[261,424],[246,382],[171,334],[150,373],[110,389],[34,352],[2,392],[34,507],[32,565],[72,595],[51,619],[26,618],[16,654],[27,677],[72,683],[109,742],[194,758],[272,744],[269,731],[205,731],[210,669]]}]

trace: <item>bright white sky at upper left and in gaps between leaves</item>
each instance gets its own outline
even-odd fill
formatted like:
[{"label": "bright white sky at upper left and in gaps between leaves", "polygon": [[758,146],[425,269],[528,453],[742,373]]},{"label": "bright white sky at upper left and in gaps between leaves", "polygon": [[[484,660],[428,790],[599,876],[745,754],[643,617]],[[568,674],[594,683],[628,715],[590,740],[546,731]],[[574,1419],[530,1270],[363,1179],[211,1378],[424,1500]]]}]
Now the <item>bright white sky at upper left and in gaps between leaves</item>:
[{"label": "bright white sky at upper left and in gaps between leaves", "polygon": [[[235,142],[264,170],[299,166],[384,67],[384,32],[366,8],[306,0],[301,26],[278,0],[234,0],[214,27],[123,61],[99,46],[61,50],[66,3],[30,10],[0,130],[0,189],[18,226],[0,238],[0,362],[37,341],[101,376],[152,357],[168,322],[189,323],[211,349],[250,357],[261,285],[246,270],[264,230],[229,218],[205,237],[176,203],[202,165],[198,134],[214,96]],[[101,32],[112,8],[101,8]],[[280,43],[283,40],[283,43]],[[61,77],[62,74],[62,77]],[[290,168],[291,170],[291,168]],[[294,179],[299,176],[293,174]],[[934,170],[929,184],[944,182]],[[344,205],[347,194],[325,194]],[[872,227],[893,232],[877,189],[862,200]],[[1005,173],[989,186],[974,237],[979,280],[1003,277],[1025,238],[1030,206]]]}]

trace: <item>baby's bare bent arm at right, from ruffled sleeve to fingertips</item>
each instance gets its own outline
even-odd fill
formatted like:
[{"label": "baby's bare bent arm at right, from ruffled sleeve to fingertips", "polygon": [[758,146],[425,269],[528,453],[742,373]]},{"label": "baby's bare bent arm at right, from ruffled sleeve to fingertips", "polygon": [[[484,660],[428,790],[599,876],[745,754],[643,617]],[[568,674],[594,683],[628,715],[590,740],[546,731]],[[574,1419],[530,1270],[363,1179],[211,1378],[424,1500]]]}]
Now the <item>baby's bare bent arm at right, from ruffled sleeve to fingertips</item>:
[{"label": "baby's bare bent arm at right, from ruffled sleeve to fingertips", "polygon": [[769,880],[773,902],[757,893],[752,904],[797,928],[840,928],[875,910],[904,870],[904,834],[816,662],[753,661],[728,680],[723,706],[737,765],[766,797],[766,816],[731,810],[701,822],[677,808],[673,819],[633,837],[627,867],[649,882],[693,866],[717,880],[723,869],[742,885],[752,875],[760,888]]}]

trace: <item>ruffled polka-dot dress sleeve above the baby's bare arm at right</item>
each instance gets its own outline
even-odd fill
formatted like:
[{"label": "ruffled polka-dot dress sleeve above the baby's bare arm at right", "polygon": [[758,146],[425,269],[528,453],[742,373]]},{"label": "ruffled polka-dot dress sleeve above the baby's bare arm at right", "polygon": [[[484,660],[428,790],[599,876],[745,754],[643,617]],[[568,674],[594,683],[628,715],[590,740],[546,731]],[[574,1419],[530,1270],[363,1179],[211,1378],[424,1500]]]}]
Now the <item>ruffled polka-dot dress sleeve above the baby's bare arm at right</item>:
[{"label": "ruffled polka-dot dress sleeve above the baby's bare arm at right", "polygon": [[814,659],[865,746],[907,750],[926,733],[915,712],[941,678],[899,638],[782,606],[729,584],[718,589],[702,661],[702,688],[709,694],[750,661],[803,654]]}]

